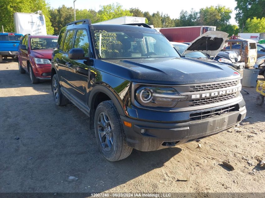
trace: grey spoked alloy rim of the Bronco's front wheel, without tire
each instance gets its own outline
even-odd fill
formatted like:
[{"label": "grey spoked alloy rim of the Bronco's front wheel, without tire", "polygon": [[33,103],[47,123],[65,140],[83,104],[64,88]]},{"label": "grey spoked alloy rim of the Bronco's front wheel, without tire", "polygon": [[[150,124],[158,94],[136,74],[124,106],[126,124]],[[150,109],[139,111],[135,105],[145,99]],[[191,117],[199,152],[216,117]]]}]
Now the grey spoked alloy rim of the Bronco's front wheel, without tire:
[{"label": "grey spoked alloy rim of the Bronco's front wheel, without tire", "polygon": [[112,124],[106,113],[101,112],[98,115],[98,137],[104,150],[110,151],[113,145]]}]

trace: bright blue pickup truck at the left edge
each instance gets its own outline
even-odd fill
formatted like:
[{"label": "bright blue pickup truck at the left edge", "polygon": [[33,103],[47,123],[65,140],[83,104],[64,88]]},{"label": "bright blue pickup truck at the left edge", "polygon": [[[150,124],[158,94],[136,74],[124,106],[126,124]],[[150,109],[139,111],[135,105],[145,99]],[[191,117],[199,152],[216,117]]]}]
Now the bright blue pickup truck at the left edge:
[{"label": "bright blue pickup truck at the left edge", "polygon": [[3,58],[17,57],[18,46],[22,37],[22,34],[0,33],[0,63],[3,62]]}]

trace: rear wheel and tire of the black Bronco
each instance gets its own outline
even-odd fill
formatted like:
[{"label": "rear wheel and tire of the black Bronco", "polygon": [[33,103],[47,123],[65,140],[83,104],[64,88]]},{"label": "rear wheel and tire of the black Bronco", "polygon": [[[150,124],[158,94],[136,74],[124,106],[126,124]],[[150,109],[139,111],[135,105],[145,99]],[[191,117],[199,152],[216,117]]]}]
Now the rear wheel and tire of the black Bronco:
[{"label": "rear wheel and tire of the black Bronco", "polygon": [[53,99],[56,105],[63,106],[69,103],[68,99],[61,92],[57,74],[54,74],[51,81]]}]

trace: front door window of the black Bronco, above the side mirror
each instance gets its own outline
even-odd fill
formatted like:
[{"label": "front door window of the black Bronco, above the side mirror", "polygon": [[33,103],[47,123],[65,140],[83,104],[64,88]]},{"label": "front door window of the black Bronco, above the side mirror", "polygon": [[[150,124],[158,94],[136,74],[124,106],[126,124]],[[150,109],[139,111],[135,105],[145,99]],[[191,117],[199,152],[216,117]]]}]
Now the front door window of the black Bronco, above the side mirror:
[{"label": "front door window of the black Bronco, above the side mirror", "polygon": [[74,48],[82,48],[85,56],[90,56],[89,42],[86,30],[77,30]]}]

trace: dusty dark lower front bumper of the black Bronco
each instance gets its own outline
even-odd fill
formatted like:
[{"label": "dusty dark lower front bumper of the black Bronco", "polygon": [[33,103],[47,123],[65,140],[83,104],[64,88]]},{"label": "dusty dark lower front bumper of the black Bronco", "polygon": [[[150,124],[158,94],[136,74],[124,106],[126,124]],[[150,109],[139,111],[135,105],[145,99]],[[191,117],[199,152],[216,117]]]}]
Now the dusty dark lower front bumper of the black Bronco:
[{"label": "dusty dark lower front bumper of the black Bronco", "polygon": [[[151,151],[166,148],[171,143],[173,143],[172,145],[180,145],[198,140],[233,127],[246,117],[244,100],[242,99],[240,103],[237,104],[239,108],[236,111],[227,114],[179,123],[157,123],[131,119],[125,116],[120,117],[123,124],[124,121],[132,124],[131,127],[124,125],[127,144],[137,150]],[[215,109],[218,108],[220,107]],[[208,110],[204,109],[203,111]],[[141,129],[144,129],[145,132],[141,133]]]}]

